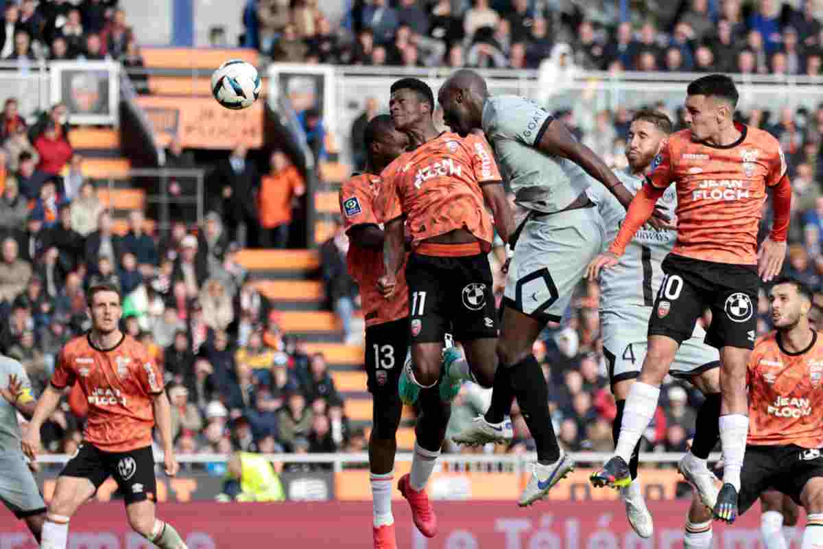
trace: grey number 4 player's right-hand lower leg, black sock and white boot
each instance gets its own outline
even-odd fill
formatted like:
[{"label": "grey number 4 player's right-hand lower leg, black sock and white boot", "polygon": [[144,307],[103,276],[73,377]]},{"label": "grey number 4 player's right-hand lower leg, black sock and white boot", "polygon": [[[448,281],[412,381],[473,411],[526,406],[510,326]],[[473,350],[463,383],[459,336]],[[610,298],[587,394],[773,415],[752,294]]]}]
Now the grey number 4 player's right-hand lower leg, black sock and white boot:
[{"label": "grey number 4 player's right-hand lower leg, black sock and white boot", "polygon": [[691,379],[691,384],[700,389],[705,400],[697,411],[695,438],[691,448],[677,464],[677,469],[697,491],[700,501],[709,509],[714,509],[718,497],[718,480],[709,471],[709,454],[718,443],[718,418],[720,417],[720,370],[712,368]]}]

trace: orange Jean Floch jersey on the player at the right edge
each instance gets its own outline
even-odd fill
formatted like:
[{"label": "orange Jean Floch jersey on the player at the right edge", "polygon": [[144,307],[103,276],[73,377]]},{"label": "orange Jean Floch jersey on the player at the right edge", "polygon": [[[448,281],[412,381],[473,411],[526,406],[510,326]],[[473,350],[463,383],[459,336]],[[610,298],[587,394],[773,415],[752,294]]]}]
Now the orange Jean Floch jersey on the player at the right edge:
[{"label": "orange Jean Floch jersey on the player at the right edge", "polygon": [[777,332],[759,337],[746,372],[748,444],[823,447],[823,338],[789,354]]}]

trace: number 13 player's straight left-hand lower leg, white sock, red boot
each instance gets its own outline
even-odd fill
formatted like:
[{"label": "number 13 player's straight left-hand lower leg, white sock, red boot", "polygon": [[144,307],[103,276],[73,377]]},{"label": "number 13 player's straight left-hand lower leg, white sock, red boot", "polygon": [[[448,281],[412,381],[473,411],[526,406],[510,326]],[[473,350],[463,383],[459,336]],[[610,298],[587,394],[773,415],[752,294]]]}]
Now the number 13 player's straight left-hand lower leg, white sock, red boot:
[{"label": "number 13 player's straight left-hand lower leg, white sock, red boot", "polygon": [[397,393],[374,392],[369,435],[369,469],[373,501],[374,547],[396,547],[392,514],[394,454],[403,405]]}]

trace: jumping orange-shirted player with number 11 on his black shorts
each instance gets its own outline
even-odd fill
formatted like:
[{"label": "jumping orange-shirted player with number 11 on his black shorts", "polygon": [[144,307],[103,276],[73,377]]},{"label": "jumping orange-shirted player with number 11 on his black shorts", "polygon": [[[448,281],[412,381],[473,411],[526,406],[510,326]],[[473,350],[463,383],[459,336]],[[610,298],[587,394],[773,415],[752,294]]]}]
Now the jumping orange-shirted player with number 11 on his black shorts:
[{"label": "jumping orange-shirted player with number 11 on his black shorts", "polygon": [[491,387],[497,367],[497,314],[487,256],[493,232],[486,205],[504,241],[512,220],[486,140],[439,133],[432,120],[434,94],[423,81],[403,78],[393,84],[391,93],[394,125],[411,137],[413,150],[382,174],[379,200],[387,221],[385,273],[379,288],[386,297],[398,291],[405,223],[412,245],[406,267],[412,361],[403,368],[399,391],[404,402],[419,398],[421,416],[412,472],[400,479],[399,488],[412,505],[417,528],[432,537],[437,521],[424,487],[443,444],[449,398],[459,390],[459,382],[452,384],[447,378],[441,385],[444,398],[436,387],[444,336],[451,332],[463,343],[474,379]]}]

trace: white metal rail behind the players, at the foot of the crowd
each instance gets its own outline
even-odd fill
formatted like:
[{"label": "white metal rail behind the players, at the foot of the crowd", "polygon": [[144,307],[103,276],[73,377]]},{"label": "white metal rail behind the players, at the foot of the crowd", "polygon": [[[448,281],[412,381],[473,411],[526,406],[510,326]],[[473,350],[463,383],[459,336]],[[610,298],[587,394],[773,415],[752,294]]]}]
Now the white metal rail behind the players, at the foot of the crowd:
[{"label": "white metal rail behind the players, at the foot of the crowd", "polygon": [[[369,463],[369,454],[260,454],[272,462],[281,463],[331,463],[333,471],[340,472],[347,465],[364,465]],[[411,452],[401,452],[395,457],[397,462],[411,462]],[[605,463],[612,454],[605,452],[574,452],[570,454],[577,463]],[[178,463],[226,463],[228,454],[177,454]],[[640,463],[677,463],[683,454],[644,452],[640,454]],[[38,463],[66,463],[72,456],[69,454],[42,454],[37,456]],[[720,454],[710,454],[709,461],[716,462]],[[514,472],[527,472],[532,463],[537,460],[537,454],[442,454],[439,463],[448,463],[456,466],[487,465],[496,466]],[[163,453],[155,453],[155,462],[163,463]]]}]

